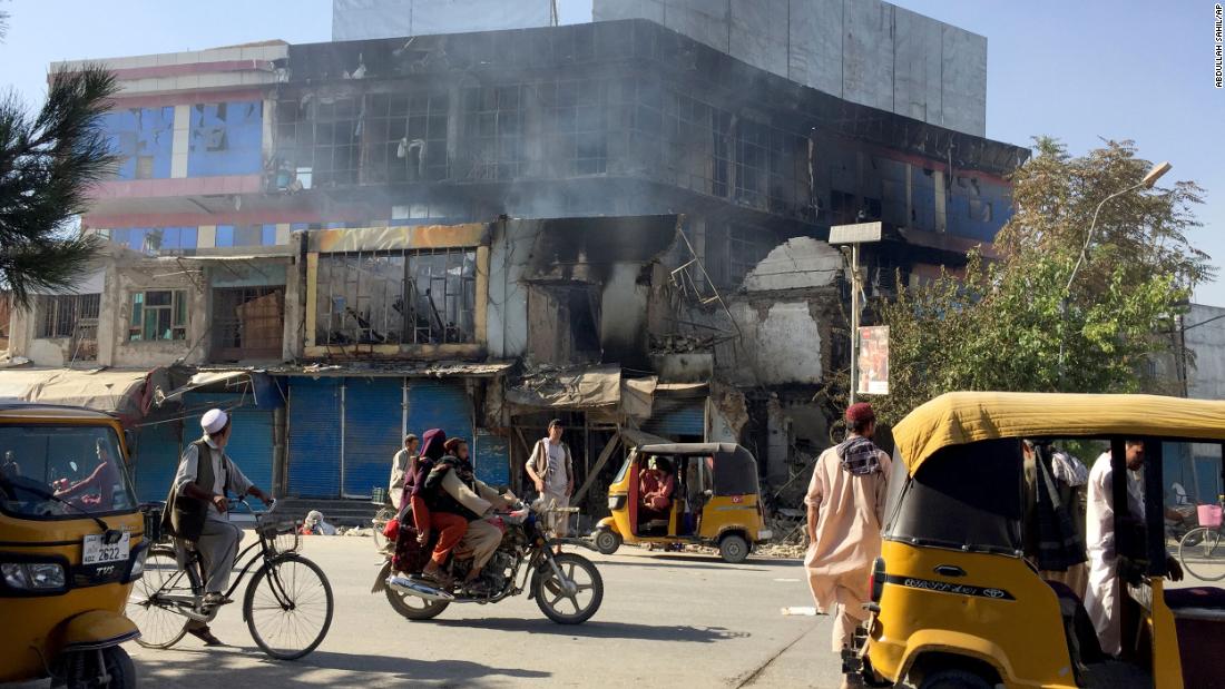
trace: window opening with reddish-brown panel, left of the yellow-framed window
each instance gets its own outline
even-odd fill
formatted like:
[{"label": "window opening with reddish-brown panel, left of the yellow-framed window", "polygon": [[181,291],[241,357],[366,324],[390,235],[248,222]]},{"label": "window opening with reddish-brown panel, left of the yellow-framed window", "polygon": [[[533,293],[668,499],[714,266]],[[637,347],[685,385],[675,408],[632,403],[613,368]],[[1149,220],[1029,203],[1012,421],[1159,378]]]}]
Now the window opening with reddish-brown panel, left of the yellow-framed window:
[{"label": "window opening with reddish-brown panel, left of the yellow-framed window", "polygon": [[281,359],[283,286],[213,290],[214,361]]}]

